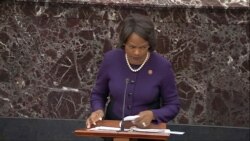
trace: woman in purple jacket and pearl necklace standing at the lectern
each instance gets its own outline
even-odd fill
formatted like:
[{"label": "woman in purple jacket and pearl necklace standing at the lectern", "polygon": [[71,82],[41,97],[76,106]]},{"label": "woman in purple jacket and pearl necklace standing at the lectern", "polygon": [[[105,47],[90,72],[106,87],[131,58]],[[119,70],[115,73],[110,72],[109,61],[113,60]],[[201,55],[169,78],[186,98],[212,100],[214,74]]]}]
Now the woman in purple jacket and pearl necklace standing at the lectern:
[{"label": "woman in purple jacket and pearl necklace standing at the lectern", "polygon": [[[152,21],[147,16],[129,15],[121,27],[118,48],[107,52],[102,61],[91,94],[93,112],[87,128],[102,118],[121,120],[125,92],[124,116],[139,115],[134,120],[137,127],[166,123],[178,114],[180,102],[172,66],[155,47]],[[104,111],[107,97],[110,102]]]}]

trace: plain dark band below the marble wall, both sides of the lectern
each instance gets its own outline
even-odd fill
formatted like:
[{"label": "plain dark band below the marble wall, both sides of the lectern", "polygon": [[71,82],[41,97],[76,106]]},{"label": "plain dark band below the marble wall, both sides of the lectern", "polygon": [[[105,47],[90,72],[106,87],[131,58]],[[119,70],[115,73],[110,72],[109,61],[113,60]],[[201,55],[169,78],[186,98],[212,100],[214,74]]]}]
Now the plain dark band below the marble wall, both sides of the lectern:
[{"label": "plain dark band below the marble wall, both sides of the lectern", "polygon": [[[76,137],[73,131],[84,128],[85,121],[72,119],[0,118],[0,141],[102,141],[100,138]],[[249,141],[249,128],[169,124],[169,141]]]}]

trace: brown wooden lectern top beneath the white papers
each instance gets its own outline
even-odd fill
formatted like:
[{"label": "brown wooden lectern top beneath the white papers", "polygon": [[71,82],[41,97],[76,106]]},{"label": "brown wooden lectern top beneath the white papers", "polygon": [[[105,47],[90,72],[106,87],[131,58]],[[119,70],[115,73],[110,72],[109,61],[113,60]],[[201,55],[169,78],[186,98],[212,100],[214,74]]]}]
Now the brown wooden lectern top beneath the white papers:
[{"label": "brown wooden lectern top beneath the white papers", "polygon": [[[98,121],[96,126],[108,126],[119,127],[120,121],[118,120],[102,120]],[[125,128],[131,127],[131,123],[125,123]],[[151,124],[149,129],[166,129],[166,123]],[[135,141],[136,139],[153,139],[158,141],[166,141],[168,134],[166,133],[149,133],[149,132],[136,132],[136,131],[108,131],[108,130],[89,130],[89,129],[77,129],[74,131],[76,136],[86,137],[109,137],[113,138],[113,141]]]}]

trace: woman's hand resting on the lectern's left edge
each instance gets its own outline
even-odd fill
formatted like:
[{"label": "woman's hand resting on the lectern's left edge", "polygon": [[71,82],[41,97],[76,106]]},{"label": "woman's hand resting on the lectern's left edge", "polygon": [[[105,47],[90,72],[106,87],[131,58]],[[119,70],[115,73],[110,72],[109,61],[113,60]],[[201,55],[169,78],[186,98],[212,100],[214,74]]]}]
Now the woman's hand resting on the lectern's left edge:
[{"label": "woman's hand resting on the lectern's left edge", "polygon": [[104,117],[103,110],[96,110],[95,112],[92,112],[86,121],[87,128],[90,128],[92,124],[96,125],[96,122],[102,120],[103,117]]}]

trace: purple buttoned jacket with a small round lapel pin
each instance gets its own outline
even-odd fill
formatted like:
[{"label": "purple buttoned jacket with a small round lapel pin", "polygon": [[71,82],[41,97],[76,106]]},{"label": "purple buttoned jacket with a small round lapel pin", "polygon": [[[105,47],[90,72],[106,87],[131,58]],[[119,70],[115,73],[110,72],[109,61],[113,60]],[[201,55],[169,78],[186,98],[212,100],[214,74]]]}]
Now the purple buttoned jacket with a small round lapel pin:
[{"label": "purple buttoned jacket with a small round lapel pin", "polygon": [[105,110],[107,97],[110,97],[105,119],[120,120],[126,79],[129,83],[125,116],[152,110],[154,122],[159,123],[168,122],[178,114],[180,101],[170,62],[151,52],[143,68],[132,72],[126,64],[125,51],[120,48],[105,53],[91,93],[92,111]]}]

